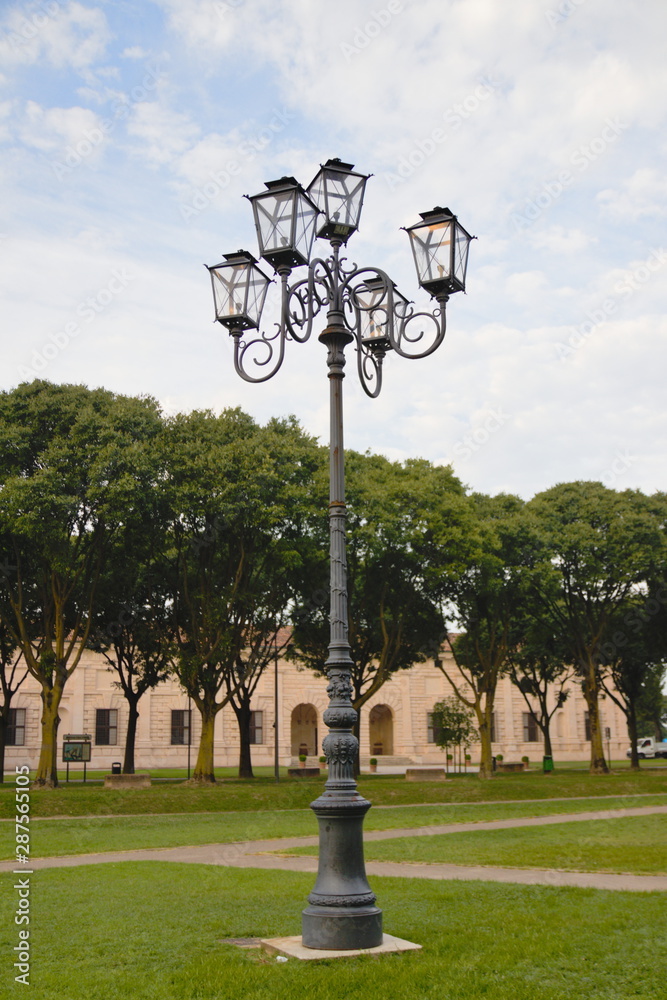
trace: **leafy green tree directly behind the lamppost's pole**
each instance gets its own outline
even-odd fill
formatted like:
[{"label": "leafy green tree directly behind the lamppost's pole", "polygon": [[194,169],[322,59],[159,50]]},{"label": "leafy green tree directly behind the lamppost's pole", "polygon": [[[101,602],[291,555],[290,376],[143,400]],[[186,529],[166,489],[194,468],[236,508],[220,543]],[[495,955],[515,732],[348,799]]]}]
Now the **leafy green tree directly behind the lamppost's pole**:
[{"label": "leafy green tree directly behind the lamppost's pole", "polygon": [[[423,460],[400,464],[350,451],[346,482],[350,680],[352,704],[359,713],[397,671],[424,662],[440,646],[444,621],[435,577],[427,576],[433,558],[432,522],[436,512],[441,518],[447,514],[446,537],[451,541],[459,530],[464,499],[451,468]],[[321,676],[329,642],[323,477],[318,496],[307,588],[293,615],[291,655]],[[358,738],[358,718],[355,735]]]}]

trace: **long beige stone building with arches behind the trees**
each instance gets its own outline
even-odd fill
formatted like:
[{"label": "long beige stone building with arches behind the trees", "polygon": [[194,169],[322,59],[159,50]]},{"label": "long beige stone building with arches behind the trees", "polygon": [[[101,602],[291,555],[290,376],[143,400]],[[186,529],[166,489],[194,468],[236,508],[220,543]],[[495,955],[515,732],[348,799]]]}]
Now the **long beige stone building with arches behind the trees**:
[{"label": "long beige stone building with arches behind the trees", "polygon": [[[450,666],[452,666],[450,664]],[[327,707],[326,679],[293,664],[279,661],[277,681],[278,745],[280,762],[295,763],[299,753],[317,757],[327,729],[322,713]],[[114,683],[115,674],[99,654],[89,652],[75,670],[65,688],[59,727],[59,743],[67,734],[89,733],[92,736],[90,767],[111,768],[122,761],[128,706]],[[417,664],[401,671],[384,685],[361,710],[362,767],[370,756],[382,763],[442,764],[445,754],[433,743],[429,713],[434,704],[452,694],[443,674],[432,662]],[[275,676],[273,668],[261,678],[253,703],[252,760],[255,765],[274,761],[274,720],[276,717]],[[12,701],[13,725],[6,751],[6,767],[15,763],[36,766],[40,746],[39,686],[27,678]],[[192,766],[199,737],[199,713],[195,706],[189,716],[188,697],[178,683],[170,680],[147,692],[139,702],[136,740],[136,767]],[[629,745],[625,717],[609,699],[601,701],[602,726],[609,731],[605,752],[614,759],[624,757]],[[192,727],[188,719],[192,720]],[[541,733],[531,720],[521,692],[504,678],[496,694],[493,751],[506,760],[531,762],[542,759]],[[188,739],[190,747],[188,747]],[[571,685],[564,706],[552,720],[553,753],[556,761],[587,760],[586,703],[579,686]],[[470,753],[473,764],[478,747]],[[216,720],[216,766],[238,763],[239,736],[236,717],[226,706]],[[59,754],[60,756],[60,754]],[[80,769],[81,765],[73,765]]]}]

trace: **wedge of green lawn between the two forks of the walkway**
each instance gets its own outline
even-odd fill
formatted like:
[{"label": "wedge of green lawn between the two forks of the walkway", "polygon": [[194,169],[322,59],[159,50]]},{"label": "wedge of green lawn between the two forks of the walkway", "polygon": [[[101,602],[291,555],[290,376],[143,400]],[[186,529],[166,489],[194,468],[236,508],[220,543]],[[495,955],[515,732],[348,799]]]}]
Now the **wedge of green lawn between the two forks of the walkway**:
[{"label": "wedge of green lawn between the two forks of the walkway", "polygon": [[[367,841],[364,853],[366,861],[656,875],[667,873],[665,845],[667,816],[656,815]],[[317,849],[289,853],[317,854]]]}]

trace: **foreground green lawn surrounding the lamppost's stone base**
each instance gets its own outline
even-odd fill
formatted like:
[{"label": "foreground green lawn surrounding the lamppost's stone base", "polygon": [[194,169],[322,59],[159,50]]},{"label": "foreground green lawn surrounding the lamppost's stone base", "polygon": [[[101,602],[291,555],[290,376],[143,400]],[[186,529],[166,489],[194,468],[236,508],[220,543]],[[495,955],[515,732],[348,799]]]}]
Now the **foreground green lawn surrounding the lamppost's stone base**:
[{"label": "foreground green lawn surrounding the lamppost's stone base", "polygon": [[[17,943],[0,908],[2,996]],[[373,879],[385,930],[423,951],[278,963],[221,939],[300,933],[312,876],[157,862],[32,876],[33,1000],[663,1000],[664,895]],[[7,985],[5,985],[7,984]]]}]

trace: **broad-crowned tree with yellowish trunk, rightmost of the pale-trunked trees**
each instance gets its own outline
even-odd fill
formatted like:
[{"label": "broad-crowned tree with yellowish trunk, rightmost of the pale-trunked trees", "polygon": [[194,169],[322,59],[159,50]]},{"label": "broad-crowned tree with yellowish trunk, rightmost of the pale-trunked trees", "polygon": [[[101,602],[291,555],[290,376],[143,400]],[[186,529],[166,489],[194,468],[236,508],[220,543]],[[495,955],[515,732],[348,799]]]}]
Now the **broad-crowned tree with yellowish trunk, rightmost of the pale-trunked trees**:
[{"label": "broad-crowned tree with yellowish trunk, rightmost of the pale-trunked trees", "polygon": [[628,599],[654,573],[664,539],[639,491],[617,493],[602,483],[562,483],[528,504],[545,544],[536,578],[543,614],[560,636],[588,707],[592,774],[608,772],[599,695],[607,672],[605,643]]}]

